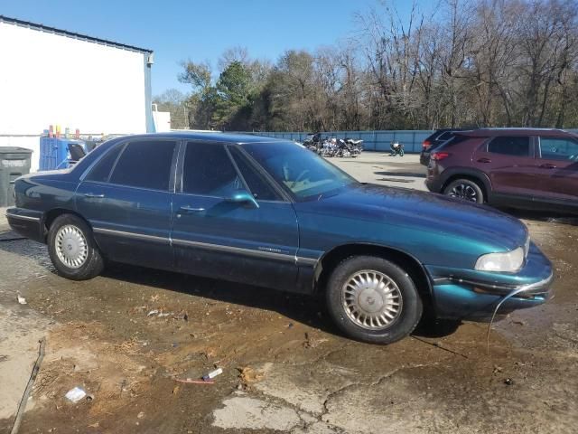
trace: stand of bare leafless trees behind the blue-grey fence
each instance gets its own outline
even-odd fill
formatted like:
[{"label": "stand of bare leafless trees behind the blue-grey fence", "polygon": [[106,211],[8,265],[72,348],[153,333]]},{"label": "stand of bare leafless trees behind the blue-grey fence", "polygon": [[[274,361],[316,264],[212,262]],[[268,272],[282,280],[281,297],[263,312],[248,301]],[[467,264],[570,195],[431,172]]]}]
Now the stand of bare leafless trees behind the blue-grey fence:
[{"label": "stand of bare leafless trees behind the blue-grey fence", "polygon": [[[382,0],[356,15],[350,40],[275,63],[244,47],[223,52],[249,72],[235,125],[256,129],[399,129],[475,126],[577,127],[575,0],[412,0],[399,14]],[[183,63],[191,125],[214,126],[207,63]],[[245,77],[245,74],[242,74]],[[246,80],[246,79],[244,79]],[[221,110],[221,115],[225,113]],[[233,125],[232,113],[219,123]],[[229,116],[230,115],[230,116]]]}]

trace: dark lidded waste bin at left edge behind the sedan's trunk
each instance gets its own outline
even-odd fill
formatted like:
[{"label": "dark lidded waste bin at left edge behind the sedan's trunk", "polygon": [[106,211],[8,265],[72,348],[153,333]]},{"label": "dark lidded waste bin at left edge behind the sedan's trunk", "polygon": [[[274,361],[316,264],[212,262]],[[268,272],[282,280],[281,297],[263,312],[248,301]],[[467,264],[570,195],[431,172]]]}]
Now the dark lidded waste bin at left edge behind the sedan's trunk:
[{"label": "dark lidded waste bin at left edge behind the sedan's trunk", "polygon": [[0,207],[14,205],[14,181],[30,173],[32,153],[23,147],[0,146]]}]

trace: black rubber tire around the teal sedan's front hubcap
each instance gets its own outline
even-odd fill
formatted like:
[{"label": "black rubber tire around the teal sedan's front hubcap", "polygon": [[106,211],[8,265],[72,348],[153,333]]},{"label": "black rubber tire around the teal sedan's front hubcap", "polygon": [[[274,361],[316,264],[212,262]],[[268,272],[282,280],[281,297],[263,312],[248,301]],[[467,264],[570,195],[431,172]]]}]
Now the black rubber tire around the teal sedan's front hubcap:
[{"label": "black rubber tire around the teal sedan's front hubcap", "polygon": [[[359,325],[345,307],[344,286],[356,273],[365,270],[375,270],[386,275],[396,284],[401,297],[397,316],[391,324],[380,329],[369,330]],[[391,344],[411,334],[424,310],[414,281],[406,271],[387,259],[374,256],[355,256],[343,260],[331,273],[325,296],[330,316],[340,330],[353,339],[371,344]]]}]

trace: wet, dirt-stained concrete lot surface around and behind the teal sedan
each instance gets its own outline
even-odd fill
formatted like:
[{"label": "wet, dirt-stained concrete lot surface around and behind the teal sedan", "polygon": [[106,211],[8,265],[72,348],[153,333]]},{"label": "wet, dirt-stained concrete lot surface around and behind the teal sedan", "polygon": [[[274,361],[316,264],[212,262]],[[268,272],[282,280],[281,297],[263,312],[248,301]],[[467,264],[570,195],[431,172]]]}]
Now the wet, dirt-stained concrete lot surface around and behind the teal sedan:
[{"label": "wet, dirt-stained concrete lot surface around and behind the teal sedan", "polygon": [[[423,188],[415,156],[339,164]],[[0,433],[42,337],[21,433],[576,433],[578,219],[516,215],[555,264],[555,298],[495,324],[488,350],[486,324],[422,324],[396,344],[361,344],[317,299],[152,269],[71,282],[43,245],[13,240],[2,212]],[[177,381],[216,367],[213,383]],[[88,399],[66,400],[75,386]]]}]

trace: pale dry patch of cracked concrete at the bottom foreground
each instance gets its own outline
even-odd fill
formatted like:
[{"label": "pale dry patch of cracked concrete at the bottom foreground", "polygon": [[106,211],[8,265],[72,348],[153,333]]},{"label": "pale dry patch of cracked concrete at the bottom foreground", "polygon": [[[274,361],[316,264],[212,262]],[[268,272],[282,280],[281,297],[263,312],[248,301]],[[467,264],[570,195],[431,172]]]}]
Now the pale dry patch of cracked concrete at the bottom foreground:
[{"label": "pale dry patch of cracked concrete at the bottom foreground", "polygon": [[[406,387],[406,382],[389,380],[402,371],[436,363],[399,366],[372,382],[356,382],[354,372],[339,367],[341,375],[335,375],[336,370],[331,366],[320,364],[319,369],[305,375],[305,380],[301,382],[299,379],[303,378],[303,373],[295,370],[296,366],[268,364],[267,369],[262,370],[266,378],[255,384],[258,393],[253,396],[259,398],[242,393],[242,396],[223,401],[224,407],[213,411],[213,426],[225,429],[281,429],[278,427],[284,426],[282,430],[300,433],[400,432],[398,429],[402,428],[403,420],[393,425],[389,421],[389,428],[383,427],[384,420],[390,418],[387,409],[395,404],[409,404],[416,398],[411,388]],[[331,375],[330,382],[326,382],[328,373]],[[384,389],[387,390],[387,401],[379,399]],[[371,397],[369,402],[368,396]],[[359,407],[365,407],[368,403],[386,410],[385,414],[376,415],[372,405],[359,414]],[[303,428],[296,428],[296,417],[305,422]],[[277,428],[270,424],[271,420],[275,420]]]}]

